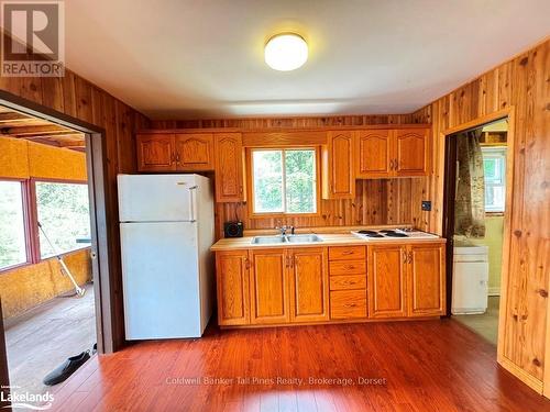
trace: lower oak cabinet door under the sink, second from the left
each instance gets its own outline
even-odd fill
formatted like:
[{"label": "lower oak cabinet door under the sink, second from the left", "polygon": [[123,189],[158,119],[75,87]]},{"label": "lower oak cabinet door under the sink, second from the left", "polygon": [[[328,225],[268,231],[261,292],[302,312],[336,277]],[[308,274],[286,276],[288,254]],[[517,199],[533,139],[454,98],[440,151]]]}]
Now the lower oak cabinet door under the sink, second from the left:
[{"label": "lower oak cabinet door under the sink, second from the left", "polygon": [[288,276],[285,249],[250,250],[251,323],[287,323]]}]

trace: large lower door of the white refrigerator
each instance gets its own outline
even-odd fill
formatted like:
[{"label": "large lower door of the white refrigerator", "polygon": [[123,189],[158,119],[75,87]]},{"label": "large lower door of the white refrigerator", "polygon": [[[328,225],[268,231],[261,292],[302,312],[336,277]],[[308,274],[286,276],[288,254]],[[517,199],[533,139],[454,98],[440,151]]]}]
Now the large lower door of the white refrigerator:
[{"label": "large lower door of the white refrigerator", "polygon": [[121,223],[127,339],[199,337],[196,223]]}]

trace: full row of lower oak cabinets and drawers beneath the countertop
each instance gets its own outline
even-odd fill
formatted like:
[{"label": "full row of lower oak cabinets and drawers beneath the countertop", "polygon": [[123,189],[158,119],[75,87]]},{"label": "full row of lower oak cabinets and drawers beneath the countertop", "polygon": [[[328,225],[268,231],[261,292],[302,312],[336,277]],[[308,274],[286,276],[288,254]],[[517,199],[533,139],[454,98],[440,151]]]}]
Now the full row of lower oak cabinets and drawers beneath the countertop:
[{"label": "full row of lower oak cabinets and drawers beneath the countertop", "polygon": [[221,326],[444,314],[444,244],[216,253]]}]

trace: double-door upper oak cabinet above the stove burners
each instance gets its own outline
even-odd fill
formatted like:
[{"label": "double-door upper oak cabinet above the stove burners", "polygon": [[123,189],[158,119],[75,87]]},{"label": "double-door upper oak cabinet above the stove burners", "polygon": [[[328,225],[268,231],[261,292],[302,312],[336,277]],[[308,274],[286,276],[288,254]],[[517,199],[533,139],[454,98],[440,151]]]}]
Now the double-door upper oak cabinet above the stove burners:
[{"label": "double-door upper oak cabinet above the stove burners", "polygon": [[426,176],[429,169],[429,129],[355,132],[358,178]]}]

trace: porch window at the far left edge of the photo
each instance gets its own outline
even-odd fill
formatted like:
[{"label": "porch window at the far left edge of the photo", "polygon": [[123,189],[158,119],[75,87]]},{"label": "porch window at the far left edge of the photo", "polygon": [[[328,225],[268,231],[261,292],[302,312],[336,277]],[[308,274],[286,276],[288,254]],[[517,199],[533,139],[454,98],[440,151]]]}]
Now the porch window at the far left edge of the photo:
[{"label": "porch window at the far left edge of the photo", "polygon": [[28,261],[23,183],[0,180],[0,269]]}]

